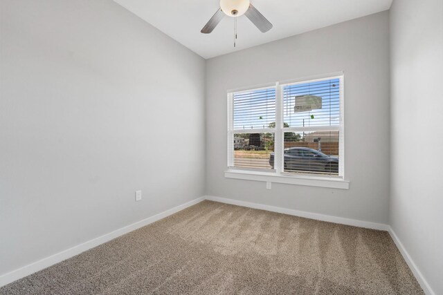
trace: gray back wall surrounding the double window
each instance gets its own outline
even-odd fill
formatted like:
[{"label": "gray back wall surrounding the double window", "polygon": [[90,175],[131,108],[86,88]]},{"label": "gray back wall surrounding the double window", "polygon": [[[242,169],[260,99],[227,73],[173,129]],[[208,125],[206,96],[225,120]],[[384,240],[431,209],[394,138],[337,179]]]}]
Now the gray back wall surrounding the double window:
[{"label": "gray back wall surrounding the double window", "polygon": [[[349,190],[224,178],[226,90],[345,73],[345,174]],[[354,19],[215,57],[206,63],[206,191],[289,209],[388,222],[389,14]]]}]

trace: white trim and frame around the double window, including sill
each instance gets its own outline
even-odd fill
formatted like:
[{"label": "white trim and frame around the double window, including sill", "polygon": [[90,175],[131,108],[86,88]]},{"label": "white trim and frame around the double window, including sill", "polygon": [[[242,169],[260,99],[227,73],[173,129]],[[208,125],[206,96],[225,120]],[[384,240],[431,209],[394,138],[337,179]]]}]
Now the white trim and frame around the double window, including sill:
[{"label": "white trim and frame around the double window, including sill", "polygon": [[[288,84],[298,84],[298,83],[307,83],[307,82],[316,82],[318,80],[323,79],[340,79],[340,126],[325,126],[325,127],[310,127],[309,130],[318,130],[318,131],[327,131],[327,130],[338,130],[339,131],[339,164],[338,164],[338,175],[311,175],[304,173],[285,173],[282,171],[281,163],[284,161],[283,153],[282,153],[282,140],[284,132],[297,132],[301,131],[303,128],[293,127],[283,129],[283,121],[282,121],[282,108],[283,108],[283,97],[282,97],[282,88]],[[262,170],[262,169],[239,169],[234,167],[234,149],[233,149],[233,140],[234,133],[256,133],[257,129],[253,130],[235,130],[233,129],[233,93],[239,91],[248,91],[251,89],[258,88],[267,88],[270,86],[275,86],[275,129],[260,129],[261,132],[269,132],[274,133],[274,170]],[[298,184],[298,185],[307,185],[313,187],[328,187],[333,189],[349,189],[349,180],[345,178],[345,116],[344,114],[344,74],[343,72],[329,73],[326,75],[318,75],[305,77],[300,79],[292,79],[284,82],[276,82],[275,84],[263,84],[256,87],[245,87],[239,88],[235,90],[228,91],[228,112],[227,112],[227,122],[228,122],[228,169],[224,173],[225,178],[235,178],[241,180],[253,180],[253,181],[262,181],[262,182],[276,182],[283,184]],[[277,128],[280,126],[280,128]],[[276,159],[280,159],[280,161],[276,161]]]}]

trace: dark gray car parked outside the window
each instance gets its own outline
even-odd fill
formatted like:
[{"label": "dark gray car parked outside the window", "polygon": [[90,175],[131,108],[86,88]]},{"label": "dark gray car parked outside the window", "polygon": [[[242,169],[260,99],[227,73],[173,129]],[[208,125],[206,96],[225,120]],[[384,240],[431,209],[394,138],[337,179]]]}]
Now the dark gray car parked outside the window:
[{"label": "dark gray car parked outside the window", "polygon": [[[284,149],[284,170],[338,173],[338,158],[315,149],[293,147]],[[274,168],[274,153],[269,164]]]}]

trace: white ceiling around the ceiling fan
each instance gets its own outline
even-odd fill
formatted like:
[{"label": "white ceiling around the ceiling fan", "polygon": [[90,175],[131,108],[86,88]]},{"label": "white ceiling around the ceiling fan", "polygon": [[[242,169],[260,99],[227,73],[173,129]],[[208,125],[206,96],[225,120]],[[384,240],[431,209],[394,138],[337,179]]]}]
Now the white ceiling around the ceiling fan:
[{"label": "white ceiling around the ceiling fan", "polygon": [[251,0],[273,23],[273,28],[262,33],[242,15],[237,19],[238,39],[234,48],[232,17],[224,17],[211,34],[200,32],[219,8],[219,0],[114,1],[205,59],[388,10],[392,3],[392,0]]}]

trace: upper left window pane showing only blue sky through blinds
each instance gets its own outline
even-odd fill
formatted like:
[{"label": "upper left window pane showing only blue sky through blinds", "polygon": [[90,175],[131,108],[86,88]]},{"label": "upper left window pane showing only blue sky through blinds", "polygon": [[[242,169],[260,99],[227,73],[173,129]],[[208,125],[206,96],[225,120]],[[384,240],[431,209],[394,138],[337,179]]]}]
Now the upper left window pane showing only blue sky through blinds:
[{"label": "upper left window pane showing only blue sky through blinds", "polygon": [[275,88],[234,93],[234,129],[275,126]]}]

